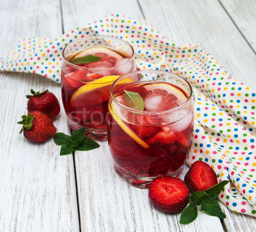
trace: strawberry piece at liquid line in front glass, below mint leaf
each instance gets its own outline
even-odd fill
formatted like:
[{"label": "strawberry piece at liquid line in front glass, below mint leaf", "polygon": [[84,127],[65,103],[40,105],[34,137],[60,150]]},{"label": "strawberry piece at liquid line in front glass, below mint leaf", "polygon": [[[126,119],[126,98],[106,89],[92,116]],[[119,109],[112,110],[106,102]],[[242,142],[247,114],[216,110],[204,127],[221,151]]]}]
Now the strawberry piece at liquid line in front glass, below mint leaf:
[{"label": "strawberry piece at liquid line in front glass, below mint leaf", "polygon": [[[140,138],[151,137],[154,136],[159,130],[160,127],[160,119],[154,115],[145,115],[145,114],[130,114],[130,122],[136,123],[136,125],[131,124],[131,129],[139,136]],[[151,126],[154,125],[154,126]]]}]

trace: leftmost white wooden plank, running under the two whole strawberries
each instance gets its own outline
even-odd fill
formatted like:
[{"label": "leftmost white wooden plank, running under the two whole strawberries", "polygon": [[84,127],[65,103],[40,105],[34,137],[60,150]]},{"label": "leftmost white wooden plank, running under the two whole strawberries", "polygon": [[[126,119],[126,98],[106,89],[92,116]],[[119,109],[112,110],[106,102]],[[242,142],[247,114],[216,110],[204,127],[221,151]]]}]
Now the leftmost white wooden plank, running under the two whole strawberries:
[{"label": "leftmost white wooden plank, running under the two whole strawberries", "polygon": [[[58,1],[3,0],[0,50],[6,54],[26,37],[61,34]],[[60,85],[35,74],[0,73],[0,231],[78,231],[72,156],[59,156],[53,139],[42,144],[19,135],[30,88],[47,87],[61,101]],[[64,109],[54,120],[68,133]]]}]

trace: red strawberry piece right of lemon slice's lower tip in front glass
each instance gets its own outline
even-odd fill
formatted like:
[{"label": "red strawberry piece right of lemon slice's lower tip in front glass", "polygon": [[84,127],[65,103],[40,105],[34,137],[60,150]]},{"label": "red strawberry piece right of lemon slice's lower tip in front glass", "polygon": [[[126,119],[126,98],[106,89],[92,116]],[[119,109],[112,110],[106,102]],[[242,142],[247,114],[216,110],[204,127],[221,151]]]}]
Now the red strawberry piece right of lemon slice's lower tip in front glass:
[{"label": "red strawberry piece right of lemon slice's lower tip in front glass", "polygon": [[170,145],[176,141],[175,133],[168,127],[162,127],[162,129],[148,140],[149,144],[159,144],[160,146]]}]

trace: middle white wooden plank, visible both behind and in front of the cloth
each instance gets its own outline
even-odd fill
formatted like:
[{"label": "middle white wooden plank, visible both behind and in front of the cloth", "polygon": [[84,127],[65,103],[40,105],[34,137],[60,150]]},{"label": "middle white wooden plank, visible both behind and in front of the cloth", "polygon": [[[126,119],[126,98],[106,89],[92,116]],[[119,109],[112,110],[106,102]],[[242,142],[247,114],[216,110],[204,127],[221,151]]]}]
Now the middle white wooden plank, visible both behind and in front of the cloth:
[{"label": "middle white wooden plank, visible both behind and in front of the cloth", "polygon": [[[64,30],[76,28],[115,12],[142,19],[137,2],[62,1]],[[80,9],[87,9],[86,14]],[[149,18],[151,20],[152,18]],[[199,213],[197,221],[182,226],[180,215],[158,211],[148,202],[148,190],[131,187],[113,169],[106,142],[89,152],[76,152],[76,173],[82,231],[223,231],[220,220]]]}]

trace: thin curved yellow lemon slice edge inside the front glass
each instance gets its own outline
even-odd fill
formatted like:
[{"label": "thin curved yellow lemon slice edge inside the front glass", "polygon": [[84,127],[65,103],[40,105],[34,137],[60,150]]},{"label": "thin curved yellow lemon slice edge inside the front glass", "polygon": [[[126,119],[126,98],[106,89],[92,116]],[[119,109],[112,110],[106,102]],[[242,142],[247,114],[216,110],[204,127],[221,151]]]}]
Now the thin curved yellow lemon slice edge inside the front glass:
[{"label": "thin curved yellow lemon slice edge inside the front glass", "polygon": [[[118,97],[116,97],[116,99],[118,99]],[[108,105],[108,109],[109,112],[111,113],[113,119],[116,121],[116,123],[125,131],[125,133],[127,133],[129,136],[131,136],[132,139],[134,139],[138,144],[140,144],[141,146],[143,146],[144,148],[148,149],[149,145],[143,141],[142,139],[140,139],[139,136],[137,136],[123,121],[122,119],[119,118],[118,113],[115,108],[115,104],[112,101],[111,102],[111,107],[110,105]]]}]

